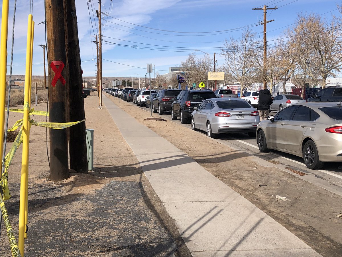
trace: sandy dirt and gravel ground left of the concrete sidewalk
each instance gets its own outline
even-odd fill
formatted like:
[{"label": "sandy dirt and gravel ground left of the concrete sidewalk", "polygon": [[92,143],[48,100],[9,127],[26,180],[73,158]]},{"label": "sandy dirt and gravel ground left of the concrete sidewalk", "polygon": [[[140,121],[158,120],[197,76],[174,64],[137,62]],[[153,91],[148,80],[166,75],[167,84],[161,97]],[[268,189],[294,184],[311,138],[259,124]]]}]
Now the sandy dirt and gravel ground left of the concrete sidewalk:
[{"label": "sandy dirt and gravel ground left of the concrete sidewalk", "polygon": [[[89,174],[71,171],[66,180],[50,181],[49,134],[31,127],[25,256],[190,256],[109,113],[98,109],[96,92],[84,99],[84,106],[86,127],[94,129],[94,171]],[[46,103],[31,107],[46,110]],[[21,118],[11,112],[9,124]],[[16,236],[21,149],[10,167],[12,198],[5,201]],[[0,256],[11,256],[3,224],[0,245]]]}]

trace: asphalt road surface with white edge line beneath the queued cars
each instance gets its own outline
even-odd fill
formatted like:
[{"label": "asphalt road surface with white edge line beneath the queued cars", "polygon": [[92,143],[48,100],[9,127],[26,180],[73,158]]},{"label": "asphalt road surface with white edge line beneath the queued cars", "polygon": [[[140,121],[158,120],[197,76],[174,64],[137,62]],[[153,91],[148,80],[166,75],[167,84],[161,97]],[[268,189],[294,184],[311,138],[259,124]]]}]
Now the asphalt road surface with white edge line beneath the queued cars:
[{"label": "asphalt road surface with white edge line beneath the queued cars", "polygon": [[[134,105],[132,102],[131,104]],[[148,112],[150,111],[150,109],[146,108],[145,106],[137,106],[137,108],[144,109]],[[165,112],[165,114],[163,115],[153,113],[153,117],[161,117],[168,121],[172,121],[171,112]],[[179,119],[172,122],[175,122],[177,124],[180,124],[184,127],[188,127],[191,129],[190,124],[181,124]],[[205,132],[199,131],[198,133]],[[235,147],[242,151],[246,151],[253,156],[260,157],[264,160],[271,161],[275,164],[283,164],[294,170],[298,170],[308,174],[311,173],[315,175],[316,178],[325,180],[331,186],[336,187],[336,190],[342,192],[342,162],[327,162],[321,170],[310,170],[306,168],[303,159],[300,157],[286,154],[280,151],[272,151],[268,153],[260,152],[255,138],[249,137],[248,134],[220,134],[218,140],[229,146]]]}]

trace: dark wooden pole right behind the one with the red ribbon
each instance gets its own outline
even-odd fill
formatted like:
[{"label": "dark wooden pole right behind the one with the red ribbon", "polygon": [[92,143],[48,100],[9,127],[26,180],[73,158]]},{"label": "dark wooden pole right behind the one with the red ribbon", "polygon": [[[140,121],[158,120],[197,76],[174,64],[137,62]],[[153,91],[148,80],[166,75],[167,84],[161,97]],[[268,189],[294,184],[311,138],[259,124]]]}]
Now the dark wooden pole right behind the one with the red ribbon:
[{"label": "dark wooden pole right behind the one with the red ribbon", "polygon": [[[64,69],[67,72],[65,90],[69,92],[69,122],[75,122],[85,118],[75,0],[63,0],[63,5],[66,43],[66,65]],[[68,130],[70,168],[77,172],[88,173],[86,122],[71,126]]]}]

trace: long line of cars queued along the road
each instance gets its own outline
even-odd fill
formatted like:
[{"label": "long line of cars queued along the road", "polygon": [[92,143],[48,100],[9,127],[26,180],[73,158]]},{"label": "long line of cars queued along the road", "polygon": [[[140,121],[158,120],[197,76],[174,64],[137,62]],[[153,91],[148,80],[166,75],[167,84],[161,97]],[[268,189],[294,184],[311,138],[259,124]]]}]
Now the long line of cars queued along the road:
[{"label": "long line of cars queued along the road", "polygon": [[[134,89],[130,90],[128,95]],[[257,91],[250,93],[244,97],[254,100],[257,96],[253,93]],[[339,99],[306,103],[297,95],[278,95],[271,105],[271,110],[278,112],[260,121],[251,99],[217,94],[211,90],[162,89],[152,90],[150,95],[149,90],[135,90],[133,103],[159,114],[171,111],[172,120],[190,122],[193,130],[205,131],[209,137],[248,133],[256,136],[261,152],[273,149],[301,156],[309,169],[320,169],[324,162],[342,161],[342,107],[336,102]]]}]

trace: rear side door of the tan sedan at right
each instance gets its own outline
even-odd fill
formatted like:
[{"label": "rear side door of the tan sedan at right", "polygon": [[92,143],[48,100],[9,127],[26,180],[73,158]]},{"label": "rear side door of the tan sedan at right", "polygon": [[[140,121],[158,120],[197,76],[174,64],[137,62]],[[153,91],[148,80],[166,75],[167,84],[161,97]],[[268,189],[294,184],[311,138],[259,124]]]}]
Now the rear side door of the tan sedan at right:
[{"label": "rear side door of the tan sedan at right", "polygon": [[287,139],[284,142],[286,150],[301,151],[301,142],[310,123],[310,112],[310,108],[298,106],[292,115],[292,119],[287,122],[286,129],[284,129],[284,137]]}]

